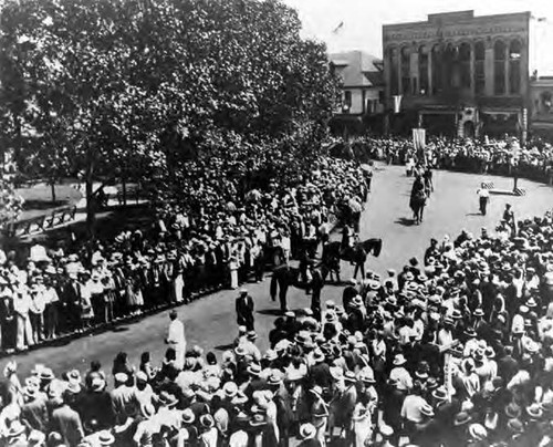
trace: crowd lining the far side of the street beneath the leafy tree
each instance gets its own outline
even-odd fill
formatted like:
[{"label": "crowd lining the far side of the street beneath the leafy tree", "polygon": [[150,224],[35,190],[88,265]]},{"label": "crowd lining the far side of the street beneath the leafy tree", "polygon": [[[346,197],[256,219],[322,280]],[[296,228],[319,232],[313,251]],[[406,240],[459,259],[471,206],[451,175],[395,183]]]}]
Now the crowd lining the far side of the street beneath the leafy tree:
[{"label": "crowd lining the far side of the street beneath the leafy tree", "polygon": [[[218,288],[260,281],[267,266],[325,240],[334,214],[367,196],[368,175],[320,157],[295,187],[238,193],[243,178],[218,157],[190,164],[185,206],[171,204],[152,230],[92,246],[0,250],[0,345],[23,351]],[[191,206],[190,206],[191,205]],[[361,205],[358,205],[361,206]]]}]

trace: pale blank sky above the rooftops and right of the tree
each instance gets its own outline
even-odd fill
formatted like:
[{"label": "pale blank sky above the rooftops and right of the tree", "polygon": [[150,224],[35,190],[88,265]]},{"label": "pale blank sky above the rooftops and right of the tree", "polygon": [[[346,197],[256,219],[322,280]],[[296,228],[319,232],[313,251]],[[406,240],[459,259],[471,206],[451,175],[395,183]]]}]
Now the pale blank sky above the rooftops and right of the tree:
[{"label": "pale blank sky above the rooftops and right of the tree", "polygon": [[[326,43],[328,52],[363,50],[382,58],[382,25],[425,21],[436,12],[474,10],[476,15],[531,11],[535,44],[531,69],[553,75],[553,0],[283,0],[298,10],[303,35]],[[343,22],[340,31],[333,30]]]}]

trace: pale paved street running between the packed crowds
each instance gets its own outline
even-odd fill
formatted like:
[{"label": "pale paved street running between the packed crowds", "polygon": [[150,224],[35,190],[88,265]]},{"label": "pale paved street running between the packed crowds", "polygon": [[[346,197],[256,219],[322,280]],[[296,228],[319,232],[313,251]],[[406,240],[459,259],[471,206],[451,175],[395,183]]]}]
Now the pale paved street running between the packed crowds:
[{"label": "pale paved street running between the packed crowds", "polygon": [[[511,179],[436,171],[436,191],[427,207],[425,221],[420,226],[411,226],[408,201],[413,179],[405,176],[403,167],[379,166],[373,180],[373,194],[363,215],[361,238],[382,238],[384,249],[378,259],[369,259],[368,268],[379,273],[385,273],[390,267],[400,269],[411,256],[420,259],[431,237],[441,238],[445,233],[455,237],[461,228],[474,235],[479,233],[481,227],[492,230],[508,201],[513,205],[517,218],[543,214],[553,205],[553,188],[520,180],[519,187],[526,189],[525,197],[492,196],[489,214],[482,217],[478,214],[476,194],[482,180],[493,181],[500,189],[512,188]],[[335,237],[338,238],[338,235]],[[342,277],[346,279],[351,274],[352,268],[344,263]],[[259,345],[267,349],[267,335],[278,305],[269,299],[269,280],[248,288],[258,311],[255,329],[260,334]],[[190,344],[199,344],[206,350],[216,349],[220,356],[221,349],[236,334],[236,291],[222,291],[179,309]],[[326,287],[322,299],[323,302],[327,299],[340,301],[341,289]],[[309,297],[303,291],[292,290],[289,292],[289,300],[292,309],[310,305]],[[56,373],[61,373],[75,366],[84,371],[90,360],[96,358],[109,372],[117,352],[126,351],[137,366],[140,353],[149,351],[154,364],[157,364],[166,350],[163,340],[168,320],[168,312],[150,315],[114,331],[18,355],[17,361],[23,373],[30,371],[35,363],[48,364]],[[0,367],[7,361],[8,358],[2,360]]]}]

